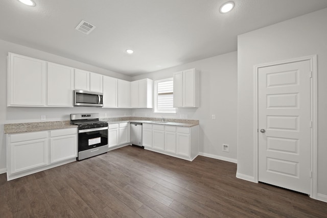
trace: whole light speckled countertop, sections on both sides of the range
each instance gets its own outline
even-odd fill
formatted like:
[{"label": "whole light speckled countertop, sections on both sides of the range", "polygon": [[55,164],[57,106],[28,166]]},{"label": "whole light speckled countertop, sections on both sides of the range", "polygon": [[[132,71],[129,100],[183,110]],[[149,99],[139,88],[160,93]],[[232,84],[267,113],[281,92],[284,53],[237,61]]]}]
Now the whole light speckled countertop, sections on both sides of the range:
[{"label": "whole light speckled countertop, sections on both sides of the range", "polygon": [[[124,122],[137,122],[147,124],[161,124],[179,127],[193,127],[199,125],[197,119],[165,119],[165,123],[161,123],[160,118],[153,117],[113,117],[113,118],[100,118],[108,124],[117,124]],[[18,124],[5,124],[5,134],[49,131],[56,129],[77,128],[77,125],[72,125],[70,120],[53,121],[53,122],[36,122],[36,123],[18,123]]]}]

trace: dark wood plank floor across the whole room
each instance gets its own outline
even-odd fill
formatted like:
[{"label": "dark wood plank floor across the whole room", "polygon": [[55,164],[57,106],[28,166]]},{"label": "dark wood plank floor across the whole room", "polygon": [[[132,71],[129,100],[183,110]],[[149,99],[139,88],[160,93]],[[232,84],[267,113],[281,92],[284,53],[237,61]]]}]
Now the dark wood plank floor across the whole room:
[{"label": "dark wood plank floor across the whole room", "polygon": [[0,175],[0,217],[327,217],[327,203],[235,175],[235,163],[128,146],[9,182]]}]

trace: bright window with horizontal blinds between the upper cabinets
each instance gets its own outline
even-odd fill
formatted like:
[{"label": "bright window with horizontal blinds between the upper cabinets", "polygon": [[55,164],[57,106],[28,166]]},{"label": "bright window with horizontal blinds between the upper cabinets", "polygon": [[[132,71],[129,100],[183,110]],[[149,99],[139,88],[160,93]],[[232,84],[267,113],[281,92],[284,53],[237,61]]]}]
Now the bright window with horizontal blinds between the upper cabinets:
[{"label": "bright window with horizontal blinds between the upper cabinets", "polygon": [[173,106],[173,78],[154,82],[154,112],[176,113]]}]

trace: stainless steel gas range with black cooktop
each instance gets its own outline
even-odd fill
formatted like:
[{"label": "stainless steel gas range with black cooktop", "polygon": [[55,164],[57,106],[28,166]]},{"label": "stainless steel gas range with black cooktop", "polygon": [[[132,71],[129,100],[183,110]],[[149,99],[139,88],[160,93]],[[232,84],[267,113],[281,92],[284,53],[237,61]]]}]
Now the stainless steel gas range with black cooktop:
[{"label": "stainless steel gas range with black cooktop", "polygon": [[99,113],[71,114],[71,124],[78,125],[77,160],[108,152],[108,123],[99,120]]}]

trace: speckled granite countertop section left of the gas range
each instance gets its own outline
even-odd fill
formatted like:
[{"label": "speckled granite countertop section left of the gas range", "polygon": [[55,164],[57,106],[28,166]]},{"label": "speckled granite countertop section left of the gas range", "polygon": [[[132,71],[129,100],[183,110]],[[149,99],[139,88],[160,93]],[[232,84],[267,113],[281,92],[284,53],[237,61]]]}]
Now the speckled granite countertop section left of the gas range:
[{"label": "speckled granite countertop section left of the gas range", "polygon": [[77,126],[72,125],[69,120],[54,121],[54,122],[5,124],[4,132],[5,132],[5,134],[15,134],[15,133],[27,133],[27,132],[66,129],[66,128],[77,128]]}]

